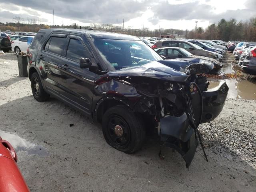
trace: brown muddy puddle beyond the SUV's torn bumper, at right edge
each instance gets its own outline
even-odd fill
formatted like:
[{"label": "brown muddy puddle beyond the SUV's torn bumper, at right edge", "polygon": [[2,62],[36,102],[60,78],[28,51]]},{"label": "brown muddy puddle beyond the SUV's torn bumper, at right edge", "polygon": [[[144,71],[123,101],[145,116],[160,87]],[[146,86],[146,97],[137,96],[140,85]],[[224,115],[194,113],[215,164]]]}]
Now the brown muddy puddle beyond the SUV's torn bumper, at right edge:
[{"label": "brown muddy puddle beyond the SUV's torn bumper, at right edge", "polygon": [[209,79],[209,88],[214,88],[220,82],[226,81],[229,87],[228,98],[256,99],[256,78],[248,78],[247,80],[214,80]]}]

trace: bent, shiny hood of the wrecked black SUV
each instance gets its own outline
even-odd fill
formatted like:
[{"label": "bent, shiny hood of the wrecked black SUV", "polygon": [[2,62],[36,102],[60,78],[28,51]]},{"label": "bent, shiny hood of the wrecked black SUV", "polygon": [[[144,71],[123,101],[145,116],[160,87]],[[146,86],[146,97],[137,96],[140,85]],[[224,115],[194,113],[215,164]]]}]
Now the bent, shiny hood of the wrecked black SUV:
[{"label": "bent, shiny hood of the wrecked black SUV", "polygon": [[[162,60],[161,60],[162,61]],[[128,68],[122,68],[120,70],[108,72],[108,76],[121,77],[121,76],[144,76],[149,78],[174,81],[174,82],[186,82],[188,75],[170,68],[160,62],[153,61],[141,66],[134,66]]]}]

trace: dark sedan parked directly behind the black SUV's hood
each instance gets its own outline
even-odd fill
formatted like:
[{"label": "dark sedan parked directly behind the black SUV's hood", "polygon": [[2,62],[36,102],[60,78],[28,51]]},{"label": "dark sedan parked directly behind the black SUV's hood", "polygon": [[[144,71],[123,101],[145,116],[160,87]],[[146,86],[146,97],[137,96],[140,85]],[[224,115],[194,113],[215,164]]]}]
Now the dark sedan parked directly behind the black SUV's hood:
[{"label": "dark sedan parked directly behind the black SUV's hood", "polygon": [[204,56],[198,56],[198,55],[193,55],[184,48],[180,47],[164,47],[164,48],[159,48],[155,49],[155,51],[160,55],[164,56],[166,59],[177,59],[177,58],[183,58],[183,59],[190,59],[190,58],[197,58],[197,59],[202,59],[207,62],[210,62],[214,64],[214,69],[211,70],[211,73],[216,73],[220,68],[222,68],[222,64],[213,58],[210,57],[204,57]]}]

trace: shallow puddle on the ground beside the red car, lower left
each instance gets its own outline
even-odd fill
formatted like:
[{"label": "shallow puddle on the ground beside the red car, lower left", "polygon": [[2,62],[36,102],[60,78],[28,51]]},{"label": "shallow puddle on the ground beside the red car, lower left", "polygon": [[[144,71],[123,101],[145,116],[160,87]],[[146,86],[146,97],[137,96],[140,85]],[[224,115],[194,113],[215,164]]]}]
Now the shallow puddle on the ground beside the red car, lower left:
[{"label": "shallow puddle on the ground beside the red car, lower left", "polygon": [[3,140],[7,140],[8,142],[10,142],[10,144],[13,146],[16,152],[25,151],[29,155],[37,155],[37,156],[50,155],[50,153],[46,150],[46,148],[42,146],[38,146],[36,144],[32,144],[16,134],[3,132],[0,130],[0,136],[2,137]]}]

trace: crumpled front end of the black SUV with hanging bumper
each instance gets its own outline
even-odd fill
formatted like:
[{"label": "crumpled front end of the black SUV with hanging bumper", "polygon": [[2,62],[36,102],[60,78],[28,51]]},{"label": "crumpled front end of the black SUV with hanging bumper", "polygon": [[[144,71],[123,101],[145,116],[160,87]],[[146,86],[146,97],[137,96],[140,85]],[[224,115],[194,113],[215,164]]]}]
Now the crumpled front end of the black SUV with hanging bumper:
[{"label": "crumpled front end of the black SUV with hanging bumper", "polygon": [[96,92],[106,94],[104,99],[122,101],[138,115],[146,116],[166,146],[182,155],[188,168],[194,158],[198,138],[200,141],[198,125],[218,116],[224,106],[228,86],[224,82],[217,89],[207,91],[206,77],[197,72],[212,69],[209,66],[193,64],[186,69],[189,74],[186,77],[180,72],[177,78],[175,75],[169,75],[169,79],[166,76],[162,78],[163,73],[170,69],[167,68],[160,64],[145,71],[133,68],[110,72],[110,80],[97,86]]}]

